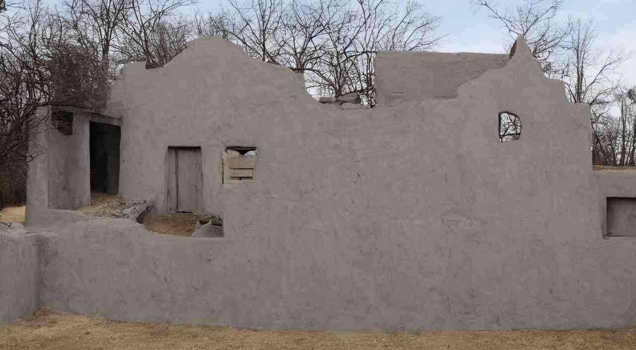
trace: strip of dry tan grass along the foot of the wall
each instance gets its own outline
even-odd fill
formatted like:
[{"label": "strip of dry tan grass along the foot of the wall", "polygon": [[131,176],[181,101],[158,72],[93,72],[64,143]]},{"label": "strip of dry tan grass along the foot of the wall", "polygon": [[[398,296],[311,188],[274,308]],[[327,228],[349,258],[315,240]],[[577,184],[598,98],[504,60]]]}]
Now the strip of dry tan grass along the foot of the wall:
[{"label": "strip of dry tan grass along the foot of the wall", "polygon": [[0,327],[0,349],[457,349],[617,350],[636,348],[636,327],[616,330],[331,333],[127,323],[40,309]]}]

